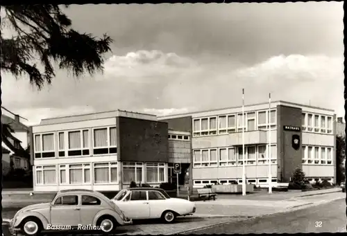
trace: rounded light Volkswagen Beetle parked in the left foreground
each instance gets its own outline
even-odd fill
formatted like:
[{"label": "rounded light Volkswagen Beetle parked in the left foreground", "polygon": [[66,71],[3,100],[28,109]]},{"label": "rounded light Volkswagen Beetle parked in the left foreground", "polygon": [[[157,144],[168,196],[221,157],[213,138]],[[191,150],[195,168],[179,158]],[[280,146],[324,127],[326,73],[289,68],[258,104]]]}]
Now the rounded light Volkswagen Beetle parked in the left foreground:
[{"label": "rounded light Volkswagen Beetle parked in the left foreground", "polygon": [[112,232],[119,225],[131,224],[115,203],[92,190],[61,190],[49,203],[19,210],[10,221],[11,230],[36,235],[41,230],[102,230]]}]

